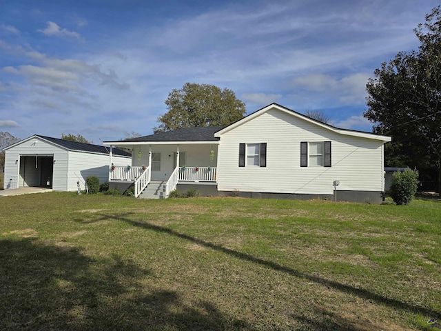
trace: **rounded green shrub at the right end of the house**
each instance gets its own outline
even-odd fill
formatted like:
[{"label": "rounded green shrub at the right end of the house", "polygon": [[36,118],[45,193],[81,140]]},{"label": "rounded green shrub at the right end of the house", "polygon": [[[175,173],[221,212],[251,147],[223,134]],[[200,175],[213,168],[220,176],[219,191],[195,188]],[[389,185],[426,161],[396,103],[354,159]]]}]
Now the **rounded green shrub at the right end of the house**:
[{"label": "rounded green shrub at the right end of the house", "polygon": [[407,205],[415,197],[418,188],[418,171],[406,169],[394,172],[391,181],[391,197],[397,205]]}]

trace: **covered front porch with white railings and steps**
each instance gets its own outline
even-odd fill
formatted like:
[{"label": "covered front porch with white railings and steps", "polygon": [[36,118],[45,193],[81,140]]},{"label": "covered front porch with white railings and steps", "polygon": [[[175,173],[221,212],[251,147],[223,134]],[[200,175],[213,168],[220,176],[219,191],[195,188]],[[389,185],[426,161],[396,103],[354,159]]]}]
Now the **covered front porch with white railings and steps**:
[{"label": "covered front porch with white railings and steps", "polygon": [[134,183],[134,195],[139,195],[152,182],[163,185],[162,197],[168,197],[178,183],[217,183],[218,144],[209,143],[121,143],[132,152],[130,164],[112,163],[110,148],[109,183]]}]

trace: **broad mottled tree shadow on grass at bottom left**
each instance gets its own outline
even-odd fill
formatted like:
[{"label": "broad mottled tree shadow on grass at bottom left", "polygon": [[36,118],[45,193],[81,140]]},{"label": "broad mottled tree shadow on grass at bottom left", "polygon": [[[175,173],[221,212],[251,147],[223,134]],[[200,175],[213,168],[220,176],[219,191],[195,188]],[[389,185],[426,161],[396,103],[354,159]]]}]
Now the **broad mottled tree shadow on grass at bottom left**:
[{"label": "broad mottled tree shadow on grass at bottom left", "polygon": [[[239,330],[247,324],[177,292],[117,256],[96,261],[37,239],[0,241],[0,330]],[[249,328],[247,328],[249,330]]]}]

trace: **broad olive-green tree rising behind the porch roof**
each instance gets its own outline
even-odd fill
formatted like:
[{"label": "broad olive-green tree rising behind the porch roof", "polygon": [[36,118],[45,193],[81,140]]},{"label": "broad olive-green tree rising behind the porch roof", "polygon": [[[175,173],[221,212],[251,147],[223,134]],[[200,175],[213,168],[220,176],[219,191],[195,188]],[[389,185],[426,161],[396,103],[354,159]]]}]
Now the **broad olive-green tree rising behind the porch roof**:
[{"label": "broad olive-green tree rising behind the porch roof", "polygon": [[200,126],[227,126],[245,116],[245,103],[232,90],[210,84],[185,83],[165,100],[168,112],[158,117],[154,132]]}]

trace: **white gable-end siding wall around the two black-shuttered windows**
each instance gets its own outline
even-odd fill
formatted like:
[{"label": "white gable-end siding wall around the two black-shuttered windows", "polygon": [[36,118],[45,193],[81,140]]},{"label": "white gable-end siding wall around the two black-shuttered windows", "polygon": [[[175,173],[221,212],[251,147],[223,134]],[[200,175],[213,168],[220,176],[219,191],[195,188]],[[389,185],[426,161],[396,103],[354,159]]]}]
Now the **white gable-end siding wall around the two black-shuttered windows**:
[{"label": "white gable-end siding wall around the two black-shuttered windows", "polygon": [[[373,135],[372,135],[373,136]],[[331,141],[331,167],[300,167],[300,142]],[[240,143],[267,143],[266,167],[239,167]],[[340,134],[276,108],[220,134],[218,190],[333,194],[383,191],[384,141]]]}]

